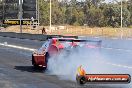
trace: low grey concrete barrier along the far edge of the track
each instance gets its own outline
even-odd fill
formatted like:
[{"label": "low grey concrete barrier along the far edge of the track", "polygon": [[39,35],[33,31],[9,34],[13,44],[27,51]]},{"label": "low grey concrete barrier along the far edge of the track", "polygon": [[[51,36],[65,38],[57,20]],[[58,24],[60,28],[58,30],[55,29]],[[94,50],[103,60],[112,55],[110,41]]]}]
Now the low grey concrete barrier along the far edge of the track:
[{"label": "low grey concrete barrier along the far edge of the track", "polygon": [[10,38],[19,38],[19,39],[30,39],[30,40],[39,40],[45,41],[50,37],[72,37],[78,38],[78,36],[63,36],[63,35],[42,35],[42,34],[28,34],[28,33],[14,33],[14,32],[0,32],[0,36],[10,37]]}]

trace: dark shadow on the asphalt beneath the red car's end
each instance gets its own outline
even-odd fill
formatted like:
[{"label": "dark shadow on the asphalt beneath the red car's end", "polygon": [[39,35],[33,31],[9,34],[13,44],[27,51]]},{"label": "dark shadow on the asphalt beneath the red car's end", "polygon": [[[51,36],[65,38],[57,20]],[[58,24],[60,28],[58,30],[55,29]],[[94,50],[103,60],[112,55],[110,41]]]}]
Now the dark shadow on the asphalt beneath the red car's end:
[{"label": "dark shadow on the asphalt beneath the red car's end", "polygon": [[14,69],[32,73],[44,73],[45,69],[42,68],[34,68],[33,66],[15,66]]}]

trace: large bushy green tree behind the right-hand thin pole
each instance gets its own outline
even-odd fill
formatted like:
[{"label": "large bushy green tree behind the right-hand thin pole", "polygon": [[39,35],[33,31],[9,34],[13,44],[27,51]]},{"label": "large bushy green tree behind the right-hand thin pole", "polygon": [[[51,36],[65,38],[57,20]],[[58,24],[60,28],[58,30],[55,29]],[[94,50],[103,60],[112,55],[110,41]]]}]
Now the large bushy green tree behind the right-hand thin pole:
[{"label": "large bushy green tree behind the right-hand thin pole", "polygon": [[[104,17],[107,20],[107,25],[112,27],[119,27],[121,25],[121,9],[120,5],[108,5],[103,11]],[[130,12],[127,8],[123,8],[123,26],[129,25]]]}]

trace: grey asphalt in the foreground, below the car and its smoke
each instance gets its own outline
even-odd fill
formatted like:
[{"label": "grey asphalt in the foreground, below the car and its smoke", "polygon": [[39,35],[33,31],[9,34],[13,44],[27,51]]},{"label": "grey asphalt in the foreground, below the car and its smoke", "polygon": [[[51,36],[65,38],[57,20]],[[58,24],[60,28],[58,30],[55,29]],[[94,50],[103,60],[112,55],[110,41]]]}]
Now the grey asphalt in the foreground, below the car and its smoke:
[{"label": "grey asphalt in the foreground, below the car and its smoke", "polygon": [[0,88],[124,88],[115,86],[80,86],[73,81],[60,80],[55,75],[34,69],[28,57],[0,49]]}]

